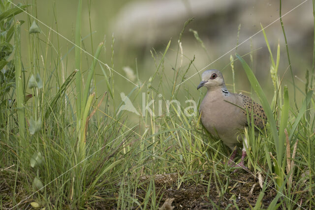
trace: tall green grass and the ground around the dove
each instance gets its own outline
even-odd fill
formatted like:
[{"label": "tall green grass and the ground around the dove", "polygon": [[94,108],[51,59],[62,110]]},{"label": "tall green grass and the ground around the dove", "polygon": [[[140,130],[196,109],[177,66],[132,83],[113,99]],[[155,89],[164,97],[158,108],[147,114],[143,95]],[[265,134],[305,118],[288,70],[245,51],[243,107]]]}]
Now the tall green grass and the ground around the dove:
[{"label": "tall green grass and the ground around the dove", "polygon": [[[3,3],[1,14],[11,11],[16,15],[19,10],[11,8],[9,2]],[[81,10],[80,0],[74,40],[84,47]],[[36,1],[27,11],[36,14]],[[28,29],[33,21],[31,17],[26,20]],[[189,116],[187,107],[192,102],[185,100],[198,105],[203,95],[193,94],[187,89],[190,85],[176,86],[194,68],[195,58],[184,65],[181,53],[181,37],[191,21],[184,24],[179,42],[170,40],[163,52],[151,51],[156,64],[151,78],[140,80],[137,72],[139,88],[133,87],[126,95],[135,104],[140,101],[139,106],[143,100],[145,105],[153,99],[157,102],[144,113],[142,107],[136,107],[140,116],[132,117],[127,111],[118,113],[123,103],[119,104],[121,99],[115,95],[118,82],[110,70],[114,69],[114,37],[111,43],[94,40],[90,26],[91,43],[100,43],[93,53],[95,59],[84,60],[77,47],[61,56],[57,34],[21,31],[19,22],[12,19],[15,51],[5,60],[14,57],[16,88],[1,77],[11,88],[1,93],[0,208],[158,209],[172,197],[173,205],[186,208],[314,208],[313,82],[305,91],[293,86],[304,95],[303,101],[289,97],[292,87],[286,88],[278,75],[282,68],[280,45],[275,61],[263,31],[275,89],[270,105],[252,68],[236,55],[240,62],[231,61],[234,71],[241,63],[268,124],[258,135],[252,126],[245,131],[250,171],[234,173],[226,164],[228,148],[203,129],[198,115]],[[28,40],[26,63],[21,63],[21,36]],[[200,37],[195,37],[203,45]],[[107,48],[111,51],[111,58],[106,58],[110,68],[97,60]],[[165,62],[173,48],[177,48],[177,57],[170,61],[174,67],[170,77]],[[74,68],[67,75],[70,54],[75,55]],[[85,65],[91,66],[88,71],[82,67]],[[95,73],[98,66],[101,75]],[[10,65],[6,63],[4,68],[9,72]],[[95,79],[99,77],[107,90],[97,88]],[[313,74],[310,77],[313,81]],[[29,92],[32,97],[27,97]],[[14,99],[14,105],[8,103]],[[181,102],[180,109],[172,100]],[[301,105],[296,108],[292,103]],[[151,111],[156,116],[150,115]]]}]

